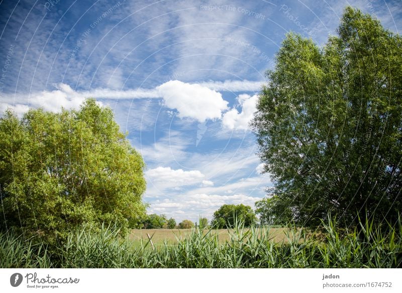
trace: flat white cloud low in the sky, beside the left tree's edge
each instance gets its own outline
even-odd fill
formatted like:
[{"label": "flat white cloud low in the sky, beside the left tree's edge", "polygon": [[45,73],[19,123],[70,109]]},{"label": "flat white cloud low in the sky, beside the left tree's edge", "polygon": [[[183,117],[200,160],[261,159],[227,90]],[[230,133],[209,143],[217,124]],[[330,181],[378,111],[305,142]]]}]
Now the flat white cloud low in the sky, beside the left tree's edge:
[{"label": "flat white cloud low in the sky, beside the left tree's edge", "polygon": [[151,169],[146,171],[145,175],[150,178],[152,182],[163,182],[164,184],[174,183],[178,186],[203,182],[203,178],[205,177],[205,175],[198,170],[173,170],[170,167],[158,167]]}]

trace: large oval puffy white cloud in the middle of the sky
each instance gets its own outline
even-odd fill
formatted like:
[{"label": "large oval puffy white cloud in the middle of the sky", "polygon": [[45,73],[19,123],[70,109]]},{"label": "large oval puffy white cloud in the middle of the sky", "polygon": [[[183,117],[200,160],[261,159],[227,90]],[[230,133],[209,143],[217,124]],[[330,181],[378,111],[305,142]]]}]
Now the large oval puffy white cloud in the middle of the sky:
[{"label": "large oval puffy white cloud in the middle of the sky", "polygon": [[180,118],[189,117],[199,122],[220,119],[228,105],[220,93],[197,84],[169,81],[157,87],[157,90],[165,106],[177,109]]}]

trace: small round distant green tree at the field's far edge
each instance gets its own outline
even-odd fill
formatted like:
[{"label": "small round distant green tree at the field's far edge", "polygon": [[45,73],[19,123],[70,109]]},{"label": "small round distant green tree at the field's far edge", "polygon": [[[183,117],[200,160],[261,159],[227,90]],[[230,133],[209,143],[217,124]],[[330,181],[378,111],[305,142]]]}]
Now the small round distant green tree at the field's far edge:
[{"label": "small round distant green tree at the field's far edge", "polygon": [[256,216],[249,205],[244,204],[224,204],[214,212],[211,225],[216,229],[232,228],[238,220],[244,222],[245,227],[249,227],[256,222]]}]

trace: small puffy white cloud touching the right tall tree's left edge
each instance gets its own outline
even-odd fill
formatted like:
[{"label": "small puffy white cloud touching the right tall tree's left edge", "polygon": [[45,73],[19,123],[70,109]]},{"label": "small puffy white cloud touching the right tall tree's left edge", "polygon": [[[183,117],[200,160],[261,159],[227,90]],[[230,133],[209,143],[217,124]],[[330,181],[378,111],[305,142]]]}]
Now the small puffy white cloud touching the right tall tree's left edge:
[{"label": "small puffy white cloud touching the right tall tree's left edge", "polygon": [[257,95],[239,95],[238,101],[242,107],[241,113],[236,108],[231,109],[223,115],[222,123],[226,128],[235,130],[249,129],[249,122],[256,111]]}]

